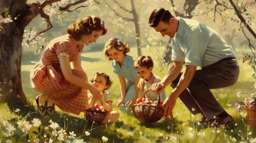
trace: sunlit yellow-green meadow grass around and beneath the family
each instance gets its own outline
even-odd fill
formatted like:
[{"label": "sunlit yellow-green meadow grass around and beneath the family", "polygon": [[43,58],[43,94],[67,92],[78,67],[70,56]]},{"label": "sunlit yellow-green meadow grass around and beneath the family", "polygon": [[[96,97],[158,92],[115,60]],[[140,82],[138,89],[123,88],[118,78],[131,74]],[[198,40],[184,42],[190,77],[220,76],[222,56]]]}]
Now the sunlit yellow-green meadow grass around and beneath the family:
[{"label": "sunlit yellow-green meadow grass around and beneath the family", "polygon": [[[162,55],[160,48],[142,48],[142,53],[150,55],[155,60],[153,72],[160,77],[163,77],[167,68],[165,67],[161,72],[159,69],[159,55]],[[128,53],[137,57],[135,48],[131,49]],[[63,142],[71,143],[102,143],[102,136],[108,138],[107,143],[254,143],[256,142],[256,132],[247,128],[246,126],[246,112],[241,109],[236,112],[232,109],[237,101],[243,101],[245,97],[237,97],[237,92],[252,92],[254,80],[251,78],[251,69],[243,64],[241,57],[242,54],[238,53],[238,62],[240,65],[240,75],[238,81],[233,86],[221,89],[212,90],[220,104],[225,110],[231,114],[234,121],[226,127],[209,128],[207,124],[194,124],[200,115],[192,115],[184,104],[177,99],[175,108],[173,109],[173,119],[167,121],[160,120],[150,125],[141,124],[133,115],[122,114],[121,111],[115,106],[117,99],[120,96],[119,80],[116,74],[112,73],[110,61],[105,59],[102,52],[97,53],[83,53],[82,66],[88,79],[91,79],[97,71],[105,71],[110,75],[113,80],[113,85],[109,92],[113,96],[113,109],[119,111],[120,117],[114,123],[107,123],[106,125],[92,125],[83,118],[83,114],[75,116],[73,114],[65,113],[56,108],[56,114],[53,117],[40,117],[36,114],[35,109],[31,110],[29,115],[22,114],[20,111],[10,111],[7,104],[0,105],[0,143],[34,143],[36,141],[49,143],[49,139],[53,139],[52,143],[62,143],[60,141],[61,134],[63,133]],[[37,62],[37,61],[33,61]],[[31,89],[29,81],[30,69],[33,64],[22,65],[22,88],[27,97],[29,105],[36,108],[34,98],[40,93]],[[166,94],[168,95],[172,88],[166,87]],[[240,113],[240,114],[239,114]],[[39,120],[36,120],[39,119]],[[58,128],[53,128],[51,123],[58,123]],[[28,121],[28,122],[25,122]],[[36,123],[38,126],[36,125]],[[19,124],[20,123],[20,126]],[[25,125],[31,125],[31,128],[24,131]],[[35,125],[35,126],[34,126]],[[13,130],[11,130],[13,129]],[[14,130],[15,129],[15,130]],[[22,130],[23,129],[23,130]],[[61,132],[63,130],[63,132]],[[11,130],[11,132],[10,132]],[[23,132],[24,131],[24,132]],[[75,138],[71,137],[72,131],[76,134]],[[7,135],[7,132],[10,132]],[[54,132],[58,132],[54,136]],[[90,133],[90,135],[85,133]],[[67,133],[67,134],[65,134]],[[8,136],[8,137],[6,137]],[[66,138],[65,138],[66,136]],[[83,142],[82,142],[83,140]]]}]

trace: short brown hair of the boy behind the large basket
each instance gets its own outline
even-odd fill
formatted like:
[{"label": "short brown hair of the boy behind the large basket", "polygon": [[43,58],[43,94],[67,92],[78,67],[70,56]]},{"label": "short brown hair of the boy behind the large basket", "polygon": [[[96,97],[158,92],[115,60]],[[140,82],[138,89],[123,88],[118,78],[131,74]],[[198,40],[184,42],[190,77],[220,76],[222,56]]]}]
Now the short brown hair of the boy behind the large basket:
[{"label": "short brown hair of the boy behind the large basket", "polygon": [[136,69],[138,67],[146,67],[149,69],[150,67],[153,68],[154,63],[150,56],[139,56],[133,63],[133,68]]}]

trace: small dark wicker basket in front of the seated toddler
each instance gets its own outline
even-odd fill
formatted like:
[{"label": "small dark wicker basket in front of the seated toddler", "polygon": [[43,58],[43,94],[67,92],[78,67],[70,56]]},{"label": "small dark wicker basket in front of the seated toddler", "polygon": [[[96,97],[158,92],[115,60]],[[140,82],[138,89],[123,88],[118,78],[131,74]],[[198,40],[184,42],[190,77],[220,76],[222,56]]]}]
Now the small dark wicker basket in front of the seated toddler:
[{"label": "small dark wicker basket in front of the seated toddler", "polygon": [[[96,124],[100,124],[104,120],[106,112],[94,111],[94,103],[95,103],[95,100],[92,103],[91,110],[89,109],[85,110],[85,116],[86,116],[86,119],[89,121],[89,123],[94,122]],[[101,102],[101,105],[102,105],[102,102]]]}]

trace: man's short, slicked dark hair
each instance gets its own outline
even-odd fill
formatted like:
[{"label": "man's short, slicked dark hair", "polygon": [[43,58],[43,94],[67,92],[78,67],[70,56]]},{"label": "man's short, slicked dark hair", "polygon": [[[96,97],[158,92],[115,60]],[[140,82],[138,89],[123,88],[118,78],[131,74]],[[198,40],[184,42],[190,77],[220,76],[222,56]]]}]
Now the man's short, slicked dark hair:
[{"label": "man's short, slicked dark hair", "polygon": [[162,21],[164,23],[169,23],[169,20],[171,18],[174,18],[171,11],[169,11],[168,9],[159,7],[152,11],[152,13],[148,19],[148,25],[150,27],[157,27],[157,25],[159,24],[160,21]]}]

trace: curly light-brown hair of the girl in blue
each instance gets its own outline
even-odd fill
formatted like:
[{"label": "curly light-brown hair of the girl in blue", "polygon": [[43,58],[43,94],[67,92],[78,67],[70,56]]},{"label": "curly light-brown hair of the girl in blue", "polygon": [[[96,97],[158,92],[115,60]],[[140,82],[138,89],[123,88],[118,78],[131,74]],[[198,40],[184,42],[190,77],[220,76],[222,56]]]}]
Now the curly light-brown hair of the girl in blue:
[{"label": "curly light-brown hair of the girl in blue", "polygon": [[122,42],[120,38],[110,38],[106,43],[104,47],[104,53],[105,57],[108,58],[108,60],[112,60],[108,54],[108,52],[112,49],[116,48],[117,51],[122,51],[124,55],[130,51],[130,48],[128,47],[128,44],[126,42]]}]

